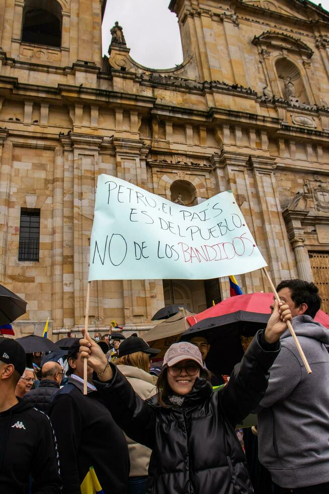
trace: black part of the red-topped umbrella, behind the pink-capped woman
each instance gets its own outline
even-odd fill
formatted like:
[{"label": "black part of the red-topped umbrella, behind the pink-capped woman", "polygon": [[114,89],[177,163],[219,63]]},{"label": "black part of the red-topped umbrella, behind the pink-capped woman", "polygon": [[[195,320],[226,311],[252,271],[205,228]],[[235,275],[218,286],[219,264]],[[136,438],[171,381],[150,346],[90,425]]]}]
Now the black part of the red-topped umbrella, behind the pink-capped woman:
[{"label": "black part of the red-topped umbrella, behind the pink-capped woman", "polygon": [[271,314],[237,311],[215,318],[203,319],[182,334],[181,340],[205,336],[210,344],[206,365],[215,375],[230,375],[243,357],[241,336],[254,336],[265,328]]}]

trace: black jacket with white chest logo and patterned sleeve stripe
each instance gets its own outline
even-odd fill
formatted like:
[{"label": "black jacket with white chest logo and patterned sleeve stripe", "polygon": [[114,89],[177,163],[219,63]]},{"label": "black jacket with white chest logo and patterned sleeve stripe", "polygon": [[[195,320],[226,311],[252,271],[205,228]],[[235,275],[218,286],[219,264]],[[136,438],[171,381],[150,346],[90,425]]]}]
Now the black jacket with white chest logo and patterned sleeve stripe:
[{"label": "black jacket with white chest logo and patterned sleeve stripe", "polygon": [[0,492],[58,494],[60,486],[50,420],[20,400],[0,413]]}]

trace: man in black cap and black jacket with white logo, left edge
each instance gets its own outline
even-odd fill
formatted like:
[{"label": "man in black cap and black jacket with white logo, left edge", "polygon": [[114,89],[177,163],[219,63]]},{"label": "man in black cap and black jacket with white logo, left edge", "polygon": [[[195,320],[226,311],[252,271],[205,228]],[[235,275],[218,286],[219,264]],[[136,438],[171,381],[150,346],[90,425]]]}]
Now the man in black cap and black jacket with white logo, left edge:
[{"label": "man in black cap and black jacket with white logo, left edge", "polygon": [[15,396],[26,356],[15,340],[0,342],[0,492],[59,494],[56,442],[47,415]]}]

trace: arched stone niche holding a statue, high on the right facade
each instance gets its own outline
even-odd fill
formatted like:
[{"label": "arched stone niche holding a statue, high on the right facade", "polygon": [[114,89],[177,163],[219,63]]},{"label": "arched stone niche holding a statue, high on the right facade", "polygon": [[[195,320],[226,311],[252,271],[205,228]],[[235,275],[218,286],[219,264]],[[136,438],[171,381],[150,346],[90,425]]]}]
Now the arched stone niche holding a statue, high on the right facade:
[{"label": "arched stone niche holding a statue, high on the right facade", "polygon": [[287,101],[298,100],[309,104],[303,79],[298,67],[287,58],[278,58],[275,62],[281,92]]}]

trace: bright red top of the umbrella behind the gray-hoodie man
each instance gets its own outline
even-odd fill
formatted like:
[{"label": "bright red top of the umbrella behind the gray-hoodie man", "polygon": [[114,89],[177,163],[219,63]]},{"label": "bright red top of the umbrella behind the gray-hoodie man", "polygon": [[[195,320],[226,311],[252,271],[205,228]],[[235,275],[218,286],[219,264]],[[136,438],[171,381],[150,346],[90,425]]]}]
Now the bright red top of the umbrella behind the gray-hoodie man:
[{"label": "bright red top of the umbrella behind the gray-hoodie man", "polygon": [[[206,311],[200,312],[195,316],[187,318],[188,323],[193,326],[199,321],[207,318],[215,318],[226,316],[237,312],[253,313],[253,314],[270,314],[270,305],[273,303],[273,293],[249,293],[246,295],[237,295],[235,297],[226,298],[222,302],[217,303]],[[316,314],[315,321],[329,329],[329,316],[319,310]]]}]

